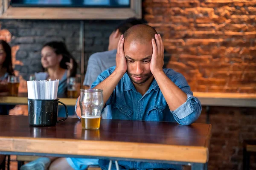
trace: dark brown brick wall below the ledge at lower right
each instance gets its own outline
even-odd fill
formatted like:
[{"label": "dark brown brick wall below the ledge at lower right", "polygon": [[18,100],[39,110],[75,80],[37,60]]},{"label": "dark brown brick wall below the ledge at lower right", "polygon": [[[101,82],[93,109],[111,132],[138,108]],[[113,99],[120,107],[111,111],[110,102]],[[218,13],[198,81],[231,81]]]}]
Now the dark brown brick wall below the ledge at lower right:
[{"label": "dark brown brick wall below the ledge at lower right", "polygon": [[[209,170],[242,170],[243,141],[256,140],[256,108],[210,107]],[[197,123],[206,123],[203,107]],[[256,169],[256,154],[250,170]]]}]

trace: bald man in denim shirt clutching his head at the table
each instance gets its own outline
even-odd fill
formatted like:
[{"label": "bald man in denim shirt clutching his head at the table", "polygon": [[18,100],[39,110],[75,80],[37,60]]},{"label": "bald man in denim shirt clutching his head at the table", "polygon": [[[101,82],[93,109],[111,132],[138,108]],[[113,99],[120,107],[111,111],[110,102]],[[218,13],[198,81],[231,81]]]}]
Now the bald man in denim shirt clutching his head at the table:
[{"label": "bald man in denim shirt clutching his head at the table", "polygon": [[[119,39],[116,67],[102,72],[92,88],[103,89],[107,119],[178,122],[190,125],[201,113],[201,103],[186,79],[172,69],[163,69],[163,41],[154,28],[136,25]],[[76,108],[81,116],[79,105]],[[172,154],[172,153],[170,153]],[[83,163],[84,160],[84,163]],[[67,159],[75,170],[87,159]],[[65,162],[65,161],[64,161]],[[103,170],[108,160],[99,160]],[[174,169],[180,165],[119,161],[120,169]],[[115,166],[113,164],[113,169]],[[50,168],[51,169],[51,168]]]}]

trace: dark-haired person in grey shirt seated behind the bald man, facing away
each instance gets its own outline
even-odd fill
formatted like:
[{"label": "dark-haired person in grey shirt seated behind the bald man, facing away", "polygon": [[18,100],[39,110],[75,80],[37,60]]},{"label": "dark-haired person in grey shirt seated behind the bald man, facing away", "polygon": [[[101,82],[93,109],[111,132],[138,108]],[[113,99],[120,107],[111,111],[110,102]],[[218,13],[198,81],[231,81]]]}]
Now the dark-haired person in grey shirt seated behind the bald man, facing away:
[{"label": "dark-haired person in grey shirt seated behind the bald man, facing away", "polygon": [[[84,77],[84,88],[90,88],[99,74],[116,65],[116,48],[121,35],[124,34],[128,28],[137,24],[142,24],[142,22],[136,18],[124,20],[110,34],[108,38],[108,51],[98,52],[90,56]],[[108,107],[109,106],[102,112],[103,119],[107,117]]]}]

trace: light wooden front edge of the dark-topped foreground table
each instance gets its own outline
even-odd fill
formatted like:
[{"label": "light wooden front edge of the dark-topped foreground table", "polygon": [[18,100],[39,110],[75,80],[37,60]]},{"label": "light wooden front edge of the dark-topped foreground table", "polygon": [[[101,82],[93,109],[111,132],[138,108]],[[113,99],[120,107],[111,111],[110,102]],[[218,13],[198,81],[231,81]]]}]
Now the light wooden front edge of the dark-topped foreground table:
[{"label": "light wooden front edge of the dark-topped foreground table", "polygon": [[206,163],[209,158],[208,148],[200,146],[79,139],[13,138],[9,136],[0,136],[0,143],[0,151],[16,153],[48,153],[193,163]]}]

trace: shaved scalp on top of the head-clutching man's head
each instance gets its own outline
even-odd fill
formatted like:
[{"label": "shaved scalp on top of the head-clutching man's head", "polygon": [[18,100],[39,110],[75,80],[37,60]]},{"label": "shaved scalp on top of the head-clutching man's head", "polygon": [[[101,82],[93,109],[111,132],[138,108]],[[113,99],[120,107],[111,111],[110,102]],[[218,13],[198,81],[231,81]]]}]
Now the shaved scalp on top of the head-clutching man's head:
[{"label": "shaved scalp on top of the head-clutching man's head", "polygon": [[151,42],[154,35],[157,34],[157,31],[151,26],[139,24],[132,26],[124,33],[125,42],[139,42],[141,44],[146,44],[147,42]]}]

